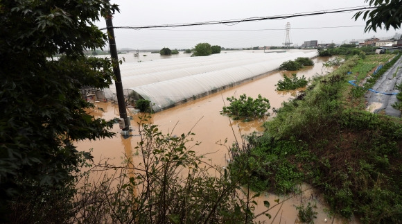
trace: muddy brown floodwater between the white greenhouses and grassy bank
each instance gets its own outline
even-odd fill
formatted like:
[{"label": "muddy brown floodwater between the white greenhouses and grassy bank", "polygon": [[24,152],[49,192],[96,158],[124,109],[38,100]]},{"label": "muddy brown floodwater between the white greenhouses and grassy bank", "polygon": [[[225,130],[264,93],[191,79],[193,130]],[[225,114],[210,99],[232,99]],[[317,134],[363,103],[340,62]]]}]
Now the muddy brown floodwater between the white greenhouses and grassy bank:
[{"label": "muddy brown floodwater between the white greenhouses and grassy bank", "polygon": [[[294,92],[277,92],[275,85],[279,80],[283,79],[283,75],[286,74],[290,76],[292,73],[297,73],[297,76],[306,76],[306,78],[311,78],[313,76],[326,74],[331,69],[322,67],[322,63],[329,60],[329,58],[315,58],[313,61],[315,65],[313,67],[305,67],[297,72],[295,71],[279,71],[261,78],[257,78],[242,85],[227,88],[221,92],[205,96],[204,98],[198,98],[194,101],[172,107],[168,110],[163,110],[152,114],[153,123],[157,124],[159,130],[164,132],[172,132],[173,135],[181,135],[182,133],[187,133],[192,129],[195,133],[194,139],[201,141],[200,146],[193,148],[199,155],[207,154],[205,157],[212,164],[217,164],[220,166],[227,165],[227,148],[216,144],[218,141],[224,142],[227,139],[227,145],[231,145],[235,139],[240,139],[241,135],[253,132],[262,131],[261,125],[263,119],[250,121],[243,123],[241,121],[231,121],[228,117],[220,114],[222,106],[227,104],[226,98],[229,96],[240,96],[241,94],[246,94],[247,96],[252,96],[256,98],[259,94],[261,96],[268,98],[272,107],[281,107],[283,101],[288,101],[289,98],[295,97],[297,94]],[[100,109],[101,108],[101,109]],[[270,111],[272,113],[272,110]],[[102,117],[104,119],[113,119],[119,117],[119,109],[111,103],[95,103],[95,108],[91,112],[94,117]],[[133,137],[127,139],[123,138],[119,133],[116,137],[112,139],[102,139],[98,141],[80,141],[76,143],[78,150],[88,151],[89,148],[93,148],[92,155],[94,155],[94,161],[100,161],[102,158],[110,158],[109,162],[120,165],[123,161],[125,154],[132,155],[134,147],[137,146],[139,141],[138,137],[138,117],[143,114],[131,114],[133,119],[131,121]],[[265,118],[269,119],[268,118]],[[115,125],[113,128],[114,132],[120,132],[119,126]],[[135,163],[134,158],[134,163]],[[308,188],[303,185],[304,189]],[[280,198],[280,201],[284,200],[286,196],[275,196],[272,194],[267,194],[258,198],[259,205],[256,207],[254,214],[259,214],[264,211],[263,200],[269,200],[271,206],[275,205],[275,199]],[[275,214],[277,217],[274,219],[273,223],[297,223],[297,209],[301,200],[306,202],[310,201],[311,198],[315,198],[317,203],[317,209],[315,209],[317,214],[317,219],[315,223],[344,223],[344,220],[330,218],[328,214],[323,212],[326,206],[322,203],[322,200],[315,195],[313,190],[306,191],[302,196],[297,195],[290,200],[287,200],[283,205],[276,206],[270,210],[272,218]],[[280,207],[280,209],[279,209]],[[265,221],[265,223],[271,223],[272,219],[269,220],[266,216],[259,216],[256,221]]]}]

